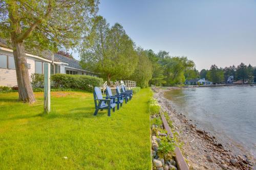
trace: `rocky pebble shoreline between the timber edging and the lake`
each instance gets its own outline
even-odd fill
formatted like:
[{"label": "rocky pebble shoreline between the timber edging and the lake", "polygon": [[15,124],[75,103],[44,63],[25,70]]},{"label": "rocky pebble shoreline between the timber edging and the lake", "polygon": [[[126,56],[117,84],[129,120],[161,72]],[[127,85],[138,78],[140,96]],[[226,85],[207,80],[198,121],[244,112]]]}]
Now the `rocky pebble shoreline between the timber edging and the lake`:
[{"label": "rocky pebble shoreline between the timber edging and the lake", "polygon": [[165,90],[175,88],[153,88],[154,98],[161,109],[168,113],[175,131],[184,142],[183,156],[189,161],[190,169],[253,169],[246,156],[235,156],[208,132],[198,129],[185,115],[178,114],[175,107],[163,97]]}]

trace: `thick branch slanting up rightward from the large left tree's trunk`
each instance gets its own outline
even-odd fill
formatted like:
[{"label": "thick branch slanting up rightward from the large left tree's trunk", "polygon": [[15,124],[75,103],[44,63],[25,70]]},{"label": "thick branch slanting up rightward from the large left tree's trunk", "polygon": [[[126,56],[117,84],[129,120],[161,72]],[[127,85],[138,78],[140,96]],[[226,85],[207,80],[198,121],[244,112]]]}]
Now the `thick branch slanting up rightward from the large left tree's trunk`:
[{"label": "thick branch slanting up rightward from the large left tree's trunk", "polygon": [[[52,1],[49,0],[47,12],[44,15],[44,18],[47,18],[51,12],[52,12]],[[20,42],[20,41],[23,41],[24,39],[26,39],[31,34],[31,32],[41,23],[41,21],[42,21],[42,19],[38,18],[27,31],[25,31],[24,33],[20,34],[17,37],[16,41]]]}]

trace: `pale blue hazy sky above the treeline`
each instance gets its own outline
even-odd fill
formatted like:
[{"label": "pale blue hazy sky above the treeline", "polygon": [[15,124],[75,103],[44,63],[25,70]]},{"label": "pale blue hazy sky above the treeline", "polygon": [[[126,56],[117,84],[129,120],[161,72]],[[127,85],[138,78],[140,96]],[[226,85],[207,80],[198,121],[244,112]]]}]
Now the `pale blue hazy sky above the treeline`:
[{"label": "pale blue hazy sky above the treeline", "polygon": [[145,50],[186,56],[199,70],[256,66],[255,0],[102,0],[98,14]]}]

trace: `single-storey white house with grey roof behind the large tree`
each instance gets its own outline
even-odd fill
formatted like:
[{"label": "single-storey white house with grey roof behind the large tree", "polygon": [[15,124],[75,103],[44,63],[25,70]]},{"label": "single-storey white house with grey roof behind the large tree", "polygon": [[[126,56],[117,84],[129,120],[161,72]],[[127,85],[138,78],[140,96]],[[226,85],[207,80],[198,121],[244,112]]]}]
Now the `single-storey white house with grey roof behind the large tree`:
[{"label": "single-storey white house with grey roof behind the large tree", "polygon": [[[12,49],[5,40],[0,38],[0,86],[13,87],[17,85],[16,71]],[[89,75],[98,77],[95,72],[85,70],[79,65],[79,61],[63,55],[54,56],[45,53],[44,55],[34,55],[26,53],[29,75],[34,73],[43,74],[44,63],[51,63],[51,74],[72,74]]]}]

